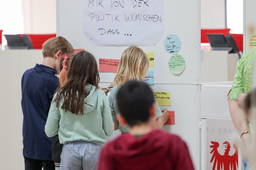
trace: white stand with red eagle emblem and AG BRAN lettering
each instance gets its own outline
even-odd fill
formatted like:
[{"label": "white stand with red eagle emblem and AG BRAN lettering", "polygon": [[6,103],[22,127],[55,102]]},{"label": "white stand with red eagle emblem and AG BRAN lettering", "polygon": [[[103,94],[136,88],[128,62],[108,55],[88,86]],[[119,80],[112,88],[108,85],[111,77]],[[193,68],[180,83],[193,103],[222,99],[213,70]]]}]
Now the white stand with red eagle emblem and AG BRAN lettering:
[{"label": "white stand with red eagle emblem and AG BRAN lettering", "polygon": [[[233,147],[234,143],[238,143],[239,135],[235,129],[229,113],[228,106],[228,92],[231,89],[232,81],[216,82],[216,83],[203,83],[201,85],[201,117],[202,117],[202,130],[201,130],[201,151],[202,151],[202,170],[213,169],[215,154],[218,152],[220,155],[215,159],[223,161],[225,164],[238,157],[238,170],[242,169],[242,154],[238,148],[236,158],[224,159],[223,155],[226,149],[224,142],[228,141],[230,144],[229,155],[234,155],[236,149]],[[218,150],[213,151],[213,143],[217,142]],[[215,144],[217,144],[215,143]],[[226,145],[226,144],[225,144]],[[211,147],[212,146],[212,147]],[[213,152],[212,152],[213,151]],[[211,153],[212,152],[212,153]],[[215,164],[217,166],[217,164]],[[233,166],[233,164],[232,164]],[[217,168],[216,168],[217,169]],[[224,168],[225,169],[225,168]]]}]

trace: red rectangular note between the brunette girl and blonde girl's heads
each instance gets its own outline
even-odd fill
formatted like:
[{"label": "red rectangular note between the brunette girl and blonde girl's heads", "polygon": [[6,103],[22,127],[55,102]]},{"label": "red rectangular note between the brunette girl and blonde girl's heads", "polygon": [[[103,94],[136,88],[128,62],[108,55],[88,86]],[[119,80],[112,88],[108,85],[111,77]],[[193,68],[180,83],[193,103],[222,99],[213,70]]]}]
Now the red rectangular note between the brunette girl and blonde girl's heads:
[{"label": "red rectangular note between the brunette girl and blonde girl's heads", "polygon": [[106,73],[116,73],[120,60],[114,59],[99,59],[99,71]]}]

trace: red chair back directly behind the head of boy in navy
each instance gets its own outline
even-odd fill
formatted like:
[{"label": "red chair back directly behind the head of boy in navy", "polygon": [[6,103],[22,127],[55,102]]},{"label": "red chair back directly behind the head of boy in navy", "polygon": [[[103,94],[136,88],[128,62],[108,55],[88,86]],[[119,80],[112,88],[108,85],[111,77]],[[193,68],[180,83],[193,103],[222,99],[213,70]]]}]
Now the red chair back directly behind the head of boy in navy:
[{"label": "red chair back directly behind the head of boy in navy", "polygon": [[[19,34],[23,36],[23,34]],[[52,37],[56,37],[56,34],[26,34],[30,37],[34,49],[42,49],[43,43]]]}]

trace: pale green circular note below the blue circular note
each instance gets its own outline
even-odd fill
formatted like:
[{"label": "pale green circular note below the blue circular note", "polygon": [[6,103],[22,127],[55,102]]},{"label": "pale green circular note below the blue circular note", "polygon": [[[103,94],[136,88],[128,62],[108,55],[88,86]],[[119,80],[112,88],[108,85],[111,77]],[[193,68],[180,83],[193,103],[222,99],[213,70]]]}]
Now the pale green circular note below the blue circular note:
[{"label": "pale green circular note below the blue circular note", "polygon": [[173,74],[180,74],[184,71],[186,62],[181,55],[175,54],[170,57],[168,65]]}]

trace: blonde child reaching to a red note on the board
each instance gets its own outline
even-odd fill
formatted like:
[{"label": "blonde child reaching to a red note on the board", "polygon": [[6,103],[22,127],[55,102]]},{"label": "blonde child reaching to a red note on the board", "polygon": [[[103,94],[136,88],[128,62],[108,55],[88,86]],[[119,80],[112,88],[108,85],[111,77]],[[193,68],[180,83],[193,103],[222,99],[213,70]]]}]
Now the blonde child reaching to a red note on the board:
[{"label": "blonde child reaching to a red note on the board", "polygon": [[[146,72],[149,69],[149,58],[146,54],[137,46],[129,46],[128,49],[124,50],[121,60],[118,66],[116,77],[114,78],[115,87],[113,87],[109,97],[108,102],[110,103],[111,115],[114,123],[114,130],[119,129],[122,134],[129,132],[129,127],[122,126],[119,124],[119,121],[116,117],[116,114],[119,113],[117,107],[117,92],[120,87],[126,83],[128,80],[140,80],[143,81],[145,78]],[[161,112],[156,100],[156,118],[159,118],[156,122],[156,128],[161,128],[164,123],[169,118],[169,113],[167,109],[164,109]]]}]

